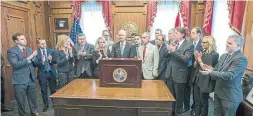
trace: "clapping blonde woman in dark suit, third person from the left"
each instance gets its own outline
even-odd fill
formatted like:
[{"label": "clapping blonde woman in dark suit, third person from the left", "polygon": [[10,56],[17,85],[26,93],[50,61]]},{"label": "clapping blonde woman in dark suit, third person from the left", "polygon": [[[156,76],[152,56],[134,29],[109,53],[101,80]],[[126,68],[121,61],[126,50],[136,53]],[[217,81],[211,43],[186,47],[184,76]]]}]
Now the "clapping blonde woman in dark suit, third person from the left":
[{"label": "clapping blonde woman in dark suit, third person from the left", "polygon": [[55,59],[58,67],[58,88],[62,88],[74,77],[74,57],[69,43],[69,36],[60,35],[58,37]]}]

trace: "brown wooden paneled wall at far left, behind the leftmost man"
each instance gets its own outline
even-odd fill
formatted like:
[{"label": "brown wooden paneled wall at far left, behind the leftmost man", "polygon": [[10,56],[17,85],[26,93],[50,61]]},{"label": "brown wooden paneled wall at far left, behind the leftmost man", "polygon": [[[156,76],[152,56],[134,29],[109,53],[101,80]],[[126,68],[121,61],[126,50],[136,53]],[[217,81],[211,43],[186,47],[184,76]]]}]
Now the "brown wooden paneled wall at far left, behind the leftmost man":
[{"label": "brown wooden paneled wall at far left, behind the leftmost man", "polygon": [[36,38],[48,38],[48,18],[45,2],[43,1],[20,1],[1,2],[1,45],[2,55],[5,58],[5,91],[6,103],[14,99],[13,87],[11,84],[12,69],[7,60],[7,49],[15,43],[12,35],[17,32],[25,34],[28,46],[34,50],[37,48]]}]

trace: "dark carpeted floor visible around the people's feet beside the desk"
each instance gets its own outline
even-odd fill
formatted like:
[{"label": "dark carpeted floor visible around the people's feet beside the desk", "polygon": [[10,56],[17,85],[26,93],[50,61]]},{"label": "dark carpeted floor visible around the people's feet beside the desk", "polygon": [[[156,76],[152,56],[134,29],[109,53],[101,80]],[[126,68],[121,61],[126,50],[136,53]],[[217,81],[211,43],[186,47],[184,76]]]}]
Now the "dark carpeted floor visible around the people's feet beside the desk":
[{"label": "dark carpeted floor visible around the people's feet beside the desk", "polygon": [[[50,100],[50,106],[47,110],[47,112],[42,112],[42,109],[44,107],[42,98],[41,98],[41,92],[40,89],[37,89],[37,100],[38,100],[38,104],[39,104],[39,112],[41,114],[41,116],[54,116],[54,109],[52,106],[52,101]],[[191,102],[192,102],[192,98],[191,98]],[[12,102],[11,104],[6,106],[7,108],[13,108],[14,111],[12,112],[4,112],[1,113],[1,116],[18,116],[18,110],[17,110],[17,106],[16,106],[16,102]],[[208,116],[213,116],[213,100],[212,98],[209,99],[209,113]],[[27,112],[27,116],[30,116],[30,110],[29,110],[29,106],[26,100],[26,112]],[[181,114],[181,115],[177,115],[177,116],[191,116],[191,111],[189,110],[188,112]]]}]

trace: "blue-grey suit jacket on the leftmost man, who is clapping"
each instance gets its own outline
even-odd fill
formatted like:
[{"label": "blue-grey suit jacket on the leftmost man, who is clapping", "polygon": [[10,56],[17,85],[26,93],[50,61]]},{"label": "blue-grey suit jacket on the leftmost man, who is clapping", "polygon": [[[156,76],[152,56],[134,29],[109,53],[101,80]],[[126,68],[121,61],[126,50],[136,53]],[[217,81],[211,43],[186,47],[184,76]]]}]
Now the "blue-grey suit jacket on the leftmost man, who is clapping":
[{"label": "blue-grey suit jacket on the leftmost man, who is clapping", "polygon": [[[27,56],[33,53],[31,48],[25,47]],[[33,82],[36,82],[33,62],[28,61],[22,50],[16,45],[7,50],[8,61],[12,66],[12,84],[27,84],[31,75]]]}]

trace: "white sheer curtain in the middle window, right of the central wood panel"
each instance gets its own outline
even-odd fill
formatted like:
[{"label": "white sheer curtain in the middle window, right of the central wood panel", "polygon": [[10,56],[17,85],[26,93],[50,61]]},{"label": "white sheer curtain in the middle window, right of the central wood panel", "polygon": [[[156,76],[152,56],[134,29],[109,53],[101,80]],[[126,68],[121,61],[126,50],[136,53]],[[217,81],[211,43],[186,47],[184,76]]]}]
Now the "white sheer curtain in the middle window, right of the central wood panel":
[{"label": "white sheer curtain in the middle window, right of the central wood panel", "polygon": [[158,4],[156,17],[150,29],[151,40],[155,39],[155,30],[157,28],[163,31],[167,40],[168,31],[174,28],[178,10],[179,3],[177,1],[163,1]]}]

